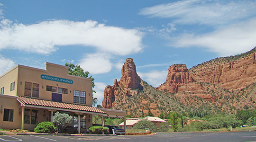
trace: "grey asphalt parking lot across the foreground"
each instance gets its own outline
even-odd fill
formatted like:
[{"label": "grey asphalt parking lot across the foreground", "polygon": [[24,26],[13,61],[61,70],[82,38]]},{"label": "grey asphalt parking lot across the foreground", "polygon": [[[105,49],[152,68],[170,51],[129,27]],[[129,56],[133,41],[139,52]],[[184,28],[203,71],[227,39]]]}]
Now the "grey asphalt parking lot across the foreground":
[{"label": "grey asphalt parking lot across the foreground", "polygon": [[0,142],[256,142],[253,132],[156,133],[155,135],[1,135]]}]

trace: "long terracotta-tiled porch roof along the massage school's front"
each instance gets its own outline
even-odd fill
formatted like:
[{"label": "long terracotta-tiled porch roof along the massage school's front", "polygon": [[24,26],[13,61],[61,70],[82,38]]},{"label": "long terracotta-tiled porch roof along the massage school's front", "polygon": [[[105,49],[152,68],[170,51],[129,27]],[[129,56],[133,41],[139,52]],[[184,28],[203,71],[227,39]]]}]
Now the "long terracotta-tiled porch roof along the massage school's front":
[{"label": "long terracotta-tiled porch roof along the massage school's front", "polygon": [[37,107],[37,108],[46,108],[54,110],[65,110],[71,112],[81,112],[81,113],[90,113],[90,114],[106,114],[106,112],[90,106],[69,104],[69,103],[60,103],[49,100],[43,100],[38,98],[29,98],[23,96],[17,96],[17,100],[21,105],[25,107]]}]

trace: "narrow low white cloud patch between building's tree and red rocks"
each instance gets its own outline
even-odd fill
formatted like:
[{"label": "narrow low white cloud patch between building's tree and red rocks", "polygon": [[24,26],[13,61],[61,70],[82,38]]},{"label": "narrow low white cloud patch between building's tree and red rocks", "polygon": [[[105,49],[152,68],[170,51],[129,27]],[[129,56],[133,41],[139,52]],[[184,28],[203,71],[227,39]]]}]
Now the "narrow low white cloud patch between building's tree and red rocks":
[{"label": "narrow low white cloud patch between building's tree and red rocks", "polygon": [[94,82],[95,87],[94,90],[96,91],[96,94],[94,94],[95,98],[98,98],[98,103],[99,105],[102,105],[102,100],[104,98],[104,89],[106,88],[106,84],[102,82]]}]

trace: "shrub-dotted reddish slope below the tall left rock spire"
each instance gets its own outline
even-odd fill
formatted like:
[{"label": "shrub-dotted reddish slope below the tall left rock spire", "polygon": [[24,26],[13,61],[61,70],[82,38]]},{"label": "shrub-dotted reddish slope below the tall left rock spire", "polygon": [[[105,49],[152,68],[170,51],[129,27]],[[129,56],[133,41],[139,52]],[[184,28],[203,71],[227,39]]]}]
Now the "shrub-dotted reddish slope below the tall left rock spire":
[{"label": "shrub-dotted reddish slope below the tall left rock spire", "polygon": [[[161,112],[169,114],[170,112],[177,111],[180,113],[185,113],[193,110],[194,108],[188,108],[182,103],[174,100],[174,98],[163,94],[162,92],[156,90],[154,87],[148,85],[145,81],[141,81],[143,86],[142,90],[136,89],[132,91],[137,91],[137,95],[126,96],[123,87],[115,99],[115,105],[112,109],[126,110],[130,116],[142,117],[142,110],[144,110],[144,115],[148,111],[152,112],[155,116],[159,115]],[[157,115],[156,115],[157,114]]]}]

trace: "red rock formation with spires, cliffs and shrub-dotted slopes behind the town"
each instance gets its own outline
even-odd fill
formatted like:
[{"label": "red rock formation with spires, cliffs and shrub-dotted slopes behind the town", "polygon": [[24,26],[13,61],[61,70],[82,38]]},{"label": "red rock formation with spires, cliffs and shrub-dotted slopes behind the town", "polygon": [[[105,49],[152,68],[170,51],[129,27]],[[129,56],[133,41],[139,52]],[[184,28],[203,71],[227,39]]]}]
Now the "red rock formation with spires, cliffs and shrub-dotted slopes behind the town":
[{"label": "red rock formation with spires, cliffs and shrub-dotted slopes behind the town", "polygon": [[142,110],[180,113],[202,111],[235,112],[256,106],[256,48],[236,56],[216,58],[187,69],[174,64],[168,69],[166,81],[153,88],[140,79],[133,59],[122,67],[120,81],[104,90],[103,108],[126,110],[141,117]]}]

